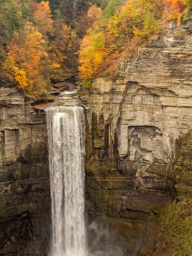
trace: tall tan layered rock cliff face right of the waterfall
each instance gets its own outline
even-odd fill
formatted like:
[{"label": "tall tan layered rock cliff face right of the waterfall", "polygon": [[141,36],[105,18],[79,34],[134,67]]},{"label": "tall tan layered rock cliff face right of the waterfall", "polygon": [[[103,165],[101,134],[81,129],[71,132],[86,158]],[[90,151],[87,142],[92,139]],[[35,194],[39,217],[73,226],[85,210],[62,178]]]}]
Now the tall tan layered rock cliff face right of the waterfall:
[{"label": "tall tan layered rock cliff face right of the waterfall", "polygon": [[152,248],[151,216],[175,196],[175,147],[192,127],[191,28],[191,17],[170,25],[82,97],[89,213],[124,234],[129,255]]}]

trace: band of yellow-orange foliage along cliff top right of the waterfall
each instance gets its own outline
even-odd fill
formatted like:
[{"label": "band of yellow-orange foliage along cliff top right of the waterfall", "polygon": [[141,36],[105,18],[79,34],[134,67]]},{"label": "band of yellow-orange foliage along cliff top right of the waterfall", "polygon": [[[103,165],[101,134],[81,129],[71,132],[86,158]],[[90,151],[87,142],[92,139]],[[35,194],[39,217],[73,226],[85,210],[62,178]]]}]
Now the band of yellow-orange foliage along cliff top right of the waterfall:
[{"label": "band of yellow-orange foliage along cliff top right of the waterfall", "polygon": [[113,60],[117,62],[118,56],[122,56],[121,52],[134,51],[130,44],[135,38],[145,42],[160,33],[167,20],[177,19],[179,24],[191,8],[191,0],[128,0],[112,17],[106,18],[93,5],[87,15],[93,22],[79,53],[81,79],[90,79],[106,68],[109,70],[109,61],[113,65]]}]

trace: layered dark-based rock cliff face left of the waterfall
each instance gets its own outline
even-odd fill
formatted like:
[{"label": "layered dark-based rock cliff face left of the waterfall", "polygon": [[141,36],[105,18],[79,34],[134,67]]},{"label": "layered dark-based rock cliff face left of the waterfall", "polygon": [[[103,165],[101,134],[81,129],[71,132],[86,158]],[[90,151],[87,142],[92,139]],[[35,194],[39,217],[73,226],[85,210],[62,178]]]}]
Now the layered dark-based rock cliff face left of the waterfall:
[{"label": "layered dark-based rock cliff face left of the waterfall", "polygon": [[45,113],[1,86],[0,255],[45,255],[50,215]]}]

